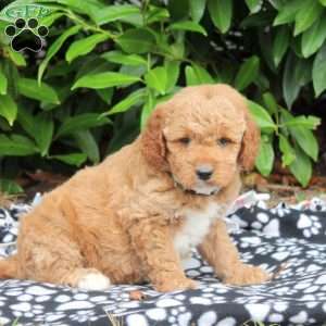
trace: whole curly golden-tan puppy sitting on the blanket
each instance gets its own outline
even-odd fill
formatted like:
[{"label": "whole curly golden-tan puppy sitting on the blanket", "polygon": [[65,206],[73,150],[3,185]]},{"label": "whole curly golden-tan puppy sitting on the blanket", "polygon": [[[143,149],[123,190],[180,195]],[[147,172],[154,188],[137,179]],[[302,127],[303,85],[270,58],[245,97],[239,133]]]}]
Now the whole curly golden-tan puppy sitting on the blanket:
[{"label": "whole curly golden-tan puppy sitting on the blanket", "polygon": [[195,288],[183,260],[197,247],[224,283],[267,280],[239,260],[222,218],[259,138],[235,89],[185,88],[158,105],[131,145],[43,197],[22,220],[17,254],[0,261],[0,276],[89,290]]}]

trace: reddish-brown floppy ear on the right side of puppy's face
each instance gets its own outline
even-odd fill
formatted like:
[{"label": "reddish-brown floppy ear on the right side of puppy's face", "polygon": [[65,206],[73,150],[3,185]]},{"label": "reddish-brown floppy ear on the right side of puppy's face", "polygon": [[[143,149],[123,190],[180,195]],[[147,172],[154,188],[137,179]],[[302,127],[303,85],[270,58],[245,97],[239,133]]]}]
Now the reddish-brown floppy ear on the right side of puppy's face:
[{"label": "reddish-brown floppy ear on the right side of puppy's face", "polygon": [[251,117],[249,109],[243,106],[246,131],[242,137],[239,163],[244,171],[250,171],[254,166],[254,161],[259,152],[261,131]]}]

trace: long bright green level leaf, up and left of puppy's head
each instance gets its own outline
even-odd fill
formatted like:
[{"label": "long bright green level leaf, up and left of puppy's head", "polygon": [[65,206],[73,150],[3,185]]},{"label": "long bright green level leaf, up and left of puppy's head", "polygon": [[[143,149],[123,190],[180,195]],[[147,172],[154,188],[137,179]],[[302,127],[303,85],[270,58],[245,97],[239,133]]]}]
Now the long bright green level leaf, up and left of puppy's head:
[{"label": "long bright green level leaf, up and left of puppy's head", "polygon": [[99,74],[90,74],[85,75],[82,78],[79,78],[72,87],[72,89],[78,88],[78,87],[86,87],[86,88],[106,88],[106,87],[113,87],[113,86],[124,86],[129,85],[133,83],[139,82],[139,77],[129,76],[125,74],[120,73],[99,73]]}]

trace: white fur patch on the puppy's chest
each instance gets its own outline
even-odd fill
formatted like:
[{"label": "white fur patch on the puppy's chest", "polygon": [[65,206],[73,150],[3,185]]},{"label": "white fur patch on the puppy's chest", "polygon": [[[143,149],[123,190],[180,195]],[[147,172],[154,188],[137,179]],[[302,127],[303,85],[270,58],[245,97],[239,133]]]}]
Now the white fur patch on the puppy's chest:
[{"label": "white fur patch on the puppy's chest", "polygon": [[221,215],[223,211],[223,208],[216,203],[210,203],[201,211],[186,211],[186,222],[174,238],[174,248],[181,259],[188,258],[191,248],[195,248],[202,242],[203,238],[209,233],[212,222],[223,217]]}]

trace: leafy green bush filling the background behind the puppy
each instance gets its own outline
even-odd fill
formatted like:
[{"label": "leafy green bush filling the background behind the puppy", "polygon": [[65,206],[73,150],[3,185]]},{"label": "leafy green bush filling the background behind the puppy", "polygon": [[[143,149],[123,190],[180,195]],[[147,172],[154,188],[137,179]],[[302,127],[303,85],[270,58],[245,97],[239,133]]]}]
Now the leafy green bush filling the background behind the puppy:
[{"label": "leafy green bush filling the background behind the puppy", "polygon": [[[268,175],[277,150],[308,185],[318,118],[291,108],[326,89],[326,1],[136,2],[18,0],[2,10],[0,174],[98,163],[179,87],[228,83],[262,129],[258,170]],[[50,30],[42,52],[15,52],[3,33],[26,14]]]}]

